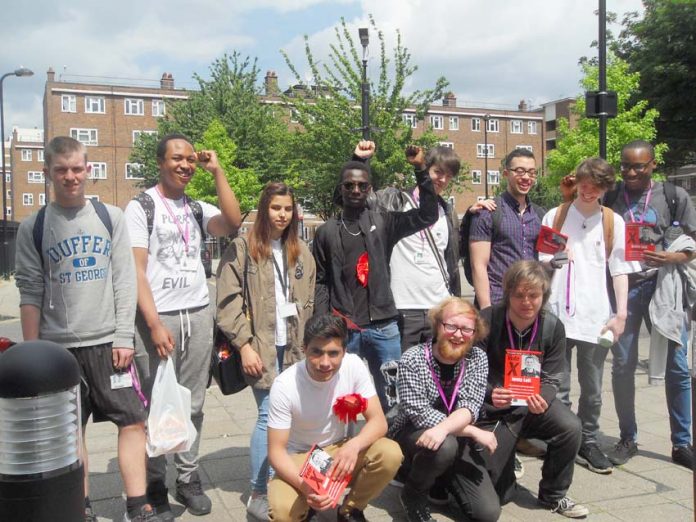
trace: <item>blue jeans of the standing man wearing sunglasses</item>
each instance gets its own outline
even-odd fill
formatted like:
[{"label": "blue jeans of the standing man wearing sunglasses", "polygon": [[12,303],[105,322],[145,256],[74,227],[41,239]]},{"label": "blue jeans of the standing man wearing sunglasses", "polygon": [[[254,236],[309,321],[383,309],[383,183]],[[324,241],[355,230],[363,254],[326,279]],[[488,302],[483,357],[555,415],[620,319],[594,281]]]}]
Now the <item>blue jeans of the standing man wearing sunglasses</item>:
[{"label": "blue jeans of the standing man wearing sunglasses", "polygon": [[401,357],[401,336],[396,320],[379,323],[379,326],[366,326],[362,331],[351,330],[346,349],[348,353],[367,360],[377,397],[382,409],[387,411],[386,382],[379,368],[385,362],[398,361]]}]

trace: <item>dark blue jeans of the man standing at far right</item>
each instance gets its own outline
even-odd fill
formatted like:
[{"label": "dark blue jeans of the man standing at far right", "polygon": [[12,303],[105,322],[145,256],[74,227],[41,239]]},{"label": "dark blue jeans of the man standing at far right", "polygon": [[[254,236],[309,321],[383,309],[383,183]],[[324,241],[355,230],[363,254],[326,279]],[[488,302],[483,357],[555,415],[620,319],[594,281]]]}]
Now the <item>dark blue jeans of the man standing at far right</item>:
[{"label": "dark blue jeans of the man standing at far right", "polygon": [[[621,439],[636,440],[636,386],[635,371],[638,363],[638,335],[641,321],[648,330],[652,329],[648,306],[655,292],[656,278],[631,285],[628,290],[628,317],[626,329],[619,342],[612,346],[614,363],[611,381],[614,387],[614,405],[619,418]],[[687,332],[682,329],[683,346],[677,347],[670,341],[667,350],[665,371],[665,395],[672,445],[685,446],[691,443],[691,378],[686,360]]]}]

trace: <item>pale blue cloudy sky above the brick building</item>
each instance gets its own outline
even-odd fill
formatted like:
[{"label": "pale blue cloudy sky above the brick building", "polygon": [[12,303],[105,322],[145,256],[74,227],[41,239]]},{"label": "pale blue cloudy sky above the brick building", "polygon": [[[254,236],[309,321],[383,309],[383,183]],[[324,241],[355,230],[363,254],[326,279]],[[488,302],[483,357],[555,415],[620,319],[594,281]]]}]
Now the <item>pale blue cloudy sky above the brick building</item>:
[{"label": "pale blue cloudy sky above the brick building", "polygon": [[[194,72],[234,50],[291,82],[286,50],[304,74],[303,35],[318,59],[343,17],[354,30],[372,14],[390,44],[400,30],[419,69],[407,90],[445,76],[459,103],[538,105],[579,93],[578,58],[594,55],[593,0],[24,0],[3,6],[0,73],[20,65],[31,78],[5,79],[5,134],[41,127],[46,70],[56,76],[106,76],[156,82],[163,72],[194,87]],[[640,0],[607,0],[621,15]],[[8,24],[7,21],[12,21]],[[618,31],[618,28],[615,28]],[[372,42],[376,42],[373,35]],[[371,45],[372,56],[378,48]],[[376,72],[377,61],[370,60]],[[117,80],[116,80],[117,81]]]}]

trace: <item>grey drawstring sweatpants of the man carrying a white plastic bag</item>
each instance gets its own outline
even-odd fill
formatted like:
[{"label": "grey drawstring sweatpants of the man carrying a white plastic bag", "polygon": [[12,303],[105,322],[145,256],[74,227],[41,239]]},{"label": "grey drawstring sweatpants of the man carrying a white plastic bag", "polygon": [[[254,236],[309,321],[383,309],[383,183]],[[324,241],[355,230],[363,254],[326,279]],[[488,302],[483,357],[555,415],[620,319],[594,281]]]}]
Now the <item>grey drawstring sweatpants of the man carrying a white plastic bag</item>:
[{"label": "grey drawstring sweatpants of the man carrying a white plastic bag", "polygon": [[[159,314],[162,323],[174,337],[176,348],[171,353],[179,384],[191,390],[191,421],[196,427],[196,440],[191,449],[176,453],[174,463],[179,482],[191,481],[191,474],[198,470],[198,446],[203,426],[203,402],[208,386],[210,354],[213,349],[213,312],[210,305],[176,312]],[[183,332],[183,336],[182,336]],[[183,339],[183,342],[182,342]],[[140,375],[143,376],[143,391],[148,399],[160,358],[152,345],[150,329],[140,314],[135,319],[135,359]],[[166,456],[148,459],[147,481],[165,482]]]}]

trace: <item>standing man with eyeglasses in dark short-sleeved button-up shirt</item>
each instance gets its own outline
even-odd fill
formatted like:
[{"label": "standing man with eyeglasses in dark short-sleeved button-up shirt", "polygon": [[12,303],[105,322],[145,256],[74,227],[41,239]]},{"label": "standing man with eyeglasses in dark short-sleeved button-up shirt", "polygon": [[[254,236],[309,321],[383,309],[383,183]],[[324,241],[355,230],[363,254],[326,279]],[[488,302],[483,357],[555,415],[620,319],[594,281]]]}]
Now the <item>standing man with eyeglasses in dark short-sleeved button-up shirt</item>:
[{"label": "standing man with eyeglasses in dark short-sleeved button-up shirt", "polygon": [[495,198],[495,210],[482,209],[473,215],[469,229],[474,293],[480,309],[500,302],[503,275],[510,265],[520,259],[536,259],[536,240],[546,213],[529,199],[537,177],[531,151],[510,152],[503,177],[507,190]]}]

